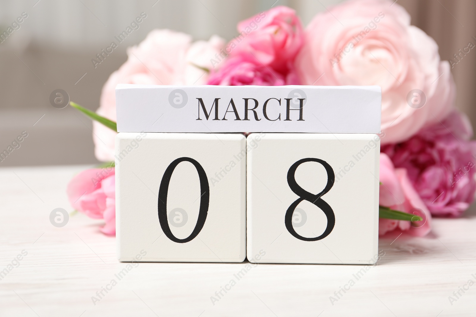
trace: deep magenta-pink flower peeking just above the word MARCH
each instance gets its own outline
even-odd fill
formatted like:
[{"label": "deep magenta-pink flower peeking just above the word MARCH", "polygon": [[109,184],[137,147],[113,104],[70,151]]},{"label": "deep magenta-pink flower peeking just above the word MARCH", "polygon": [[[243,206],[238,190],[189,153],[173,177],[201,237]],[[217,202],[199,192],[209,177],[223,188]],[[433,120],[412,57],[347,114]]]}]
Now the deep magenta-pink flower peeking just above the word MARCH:
[{"label": "deep magenta-pink flower peeking just above the word MARCH", "polygon": [[230,58],[217,73],[208,78],[208,85],[222,86],[280,86],[285,85],[285,78],[259,62]]}]

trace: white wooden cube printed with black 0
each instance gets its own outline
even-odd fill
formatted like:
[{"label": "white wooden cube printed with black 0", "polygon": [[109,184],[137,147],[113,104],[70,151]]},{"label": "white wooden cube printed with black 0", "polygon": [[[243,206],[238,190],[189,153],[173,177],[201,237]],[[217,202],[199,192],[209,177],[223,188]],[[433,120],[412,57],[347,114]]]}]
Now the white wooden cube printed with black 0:
[{"label": "white wooden cube printed with black 0", "polygon": [[242,262],[245,146],[242,134],[119,133],[118,259]]}]

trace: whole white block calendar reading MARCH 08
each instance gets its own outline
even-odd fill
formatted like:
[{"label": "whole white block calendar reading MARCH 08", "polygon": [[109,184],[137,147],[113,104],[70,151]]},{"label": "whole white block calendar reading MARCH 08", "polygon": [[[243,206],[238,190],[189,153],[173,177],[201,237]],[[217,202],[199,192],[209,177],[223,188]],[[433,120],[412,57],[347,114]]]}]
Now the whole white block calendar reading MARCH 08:
[{"label": "whole white block calendar reading MARCH 08", "polygon": [[373,263],[379,87],[118,85],[116,100],[120,261]]}]

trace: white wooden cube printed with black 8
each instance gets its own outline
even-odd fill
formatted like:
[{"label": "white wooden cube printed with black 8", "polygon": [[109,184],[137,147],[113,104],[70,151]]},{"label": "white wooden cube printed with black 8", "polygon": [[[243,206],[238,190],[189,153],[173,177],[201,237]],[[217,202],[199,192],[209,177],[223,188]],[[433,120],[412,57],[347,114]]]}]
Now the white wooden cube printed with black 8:
[{"label": "white wooden cube printed with black 8", "polygon": [[[249,261],[376,261],[376,134],[262,133],[247,143]],[[266,256],[258,260],[259,250]]]}]

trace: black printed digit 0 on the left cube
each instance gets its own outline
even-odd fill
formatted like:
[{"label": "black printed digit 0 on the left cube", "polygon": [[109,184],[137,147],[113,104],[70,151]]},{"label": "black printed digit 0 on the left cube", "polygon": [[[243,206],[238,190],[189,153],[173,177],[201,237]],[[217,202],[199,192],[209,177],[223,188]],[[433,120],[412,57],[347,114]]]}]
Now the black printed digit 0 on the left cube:
[{"label": "black printed digit 0 on the left cube", "polygon": [[[198,211],[198,219],[195,228],[193,229],[192,233],[185,239],[178,239],[175,237],[170,231],[169,222],[167,219],[167,194],[169,193],[169,183],[170,178],[172,177],[172,173],[174,172],[177,165],[181,162],[190,162],[192,163],[198,172],[198,178],[200,180],[200,207]],[[189,157],[180,157],[170,163],[170,165],[165,170],[164,176],[162,176],[162,181],[160,182],[159,187],[159,201],[157,205],[157,209],[159,211],[159,222],[162,231],[164,231],[167,238],[170,240],[177,242],[177,243],[185,243],[190,240],[193,240],[198,233],[203,228],[205,224],[205,220],[207,220],[207,213],[208,213],[208,204],[210,202],[210,187],[208,186],[208,179],[205,170],[203,169],[202,165]]]}]

